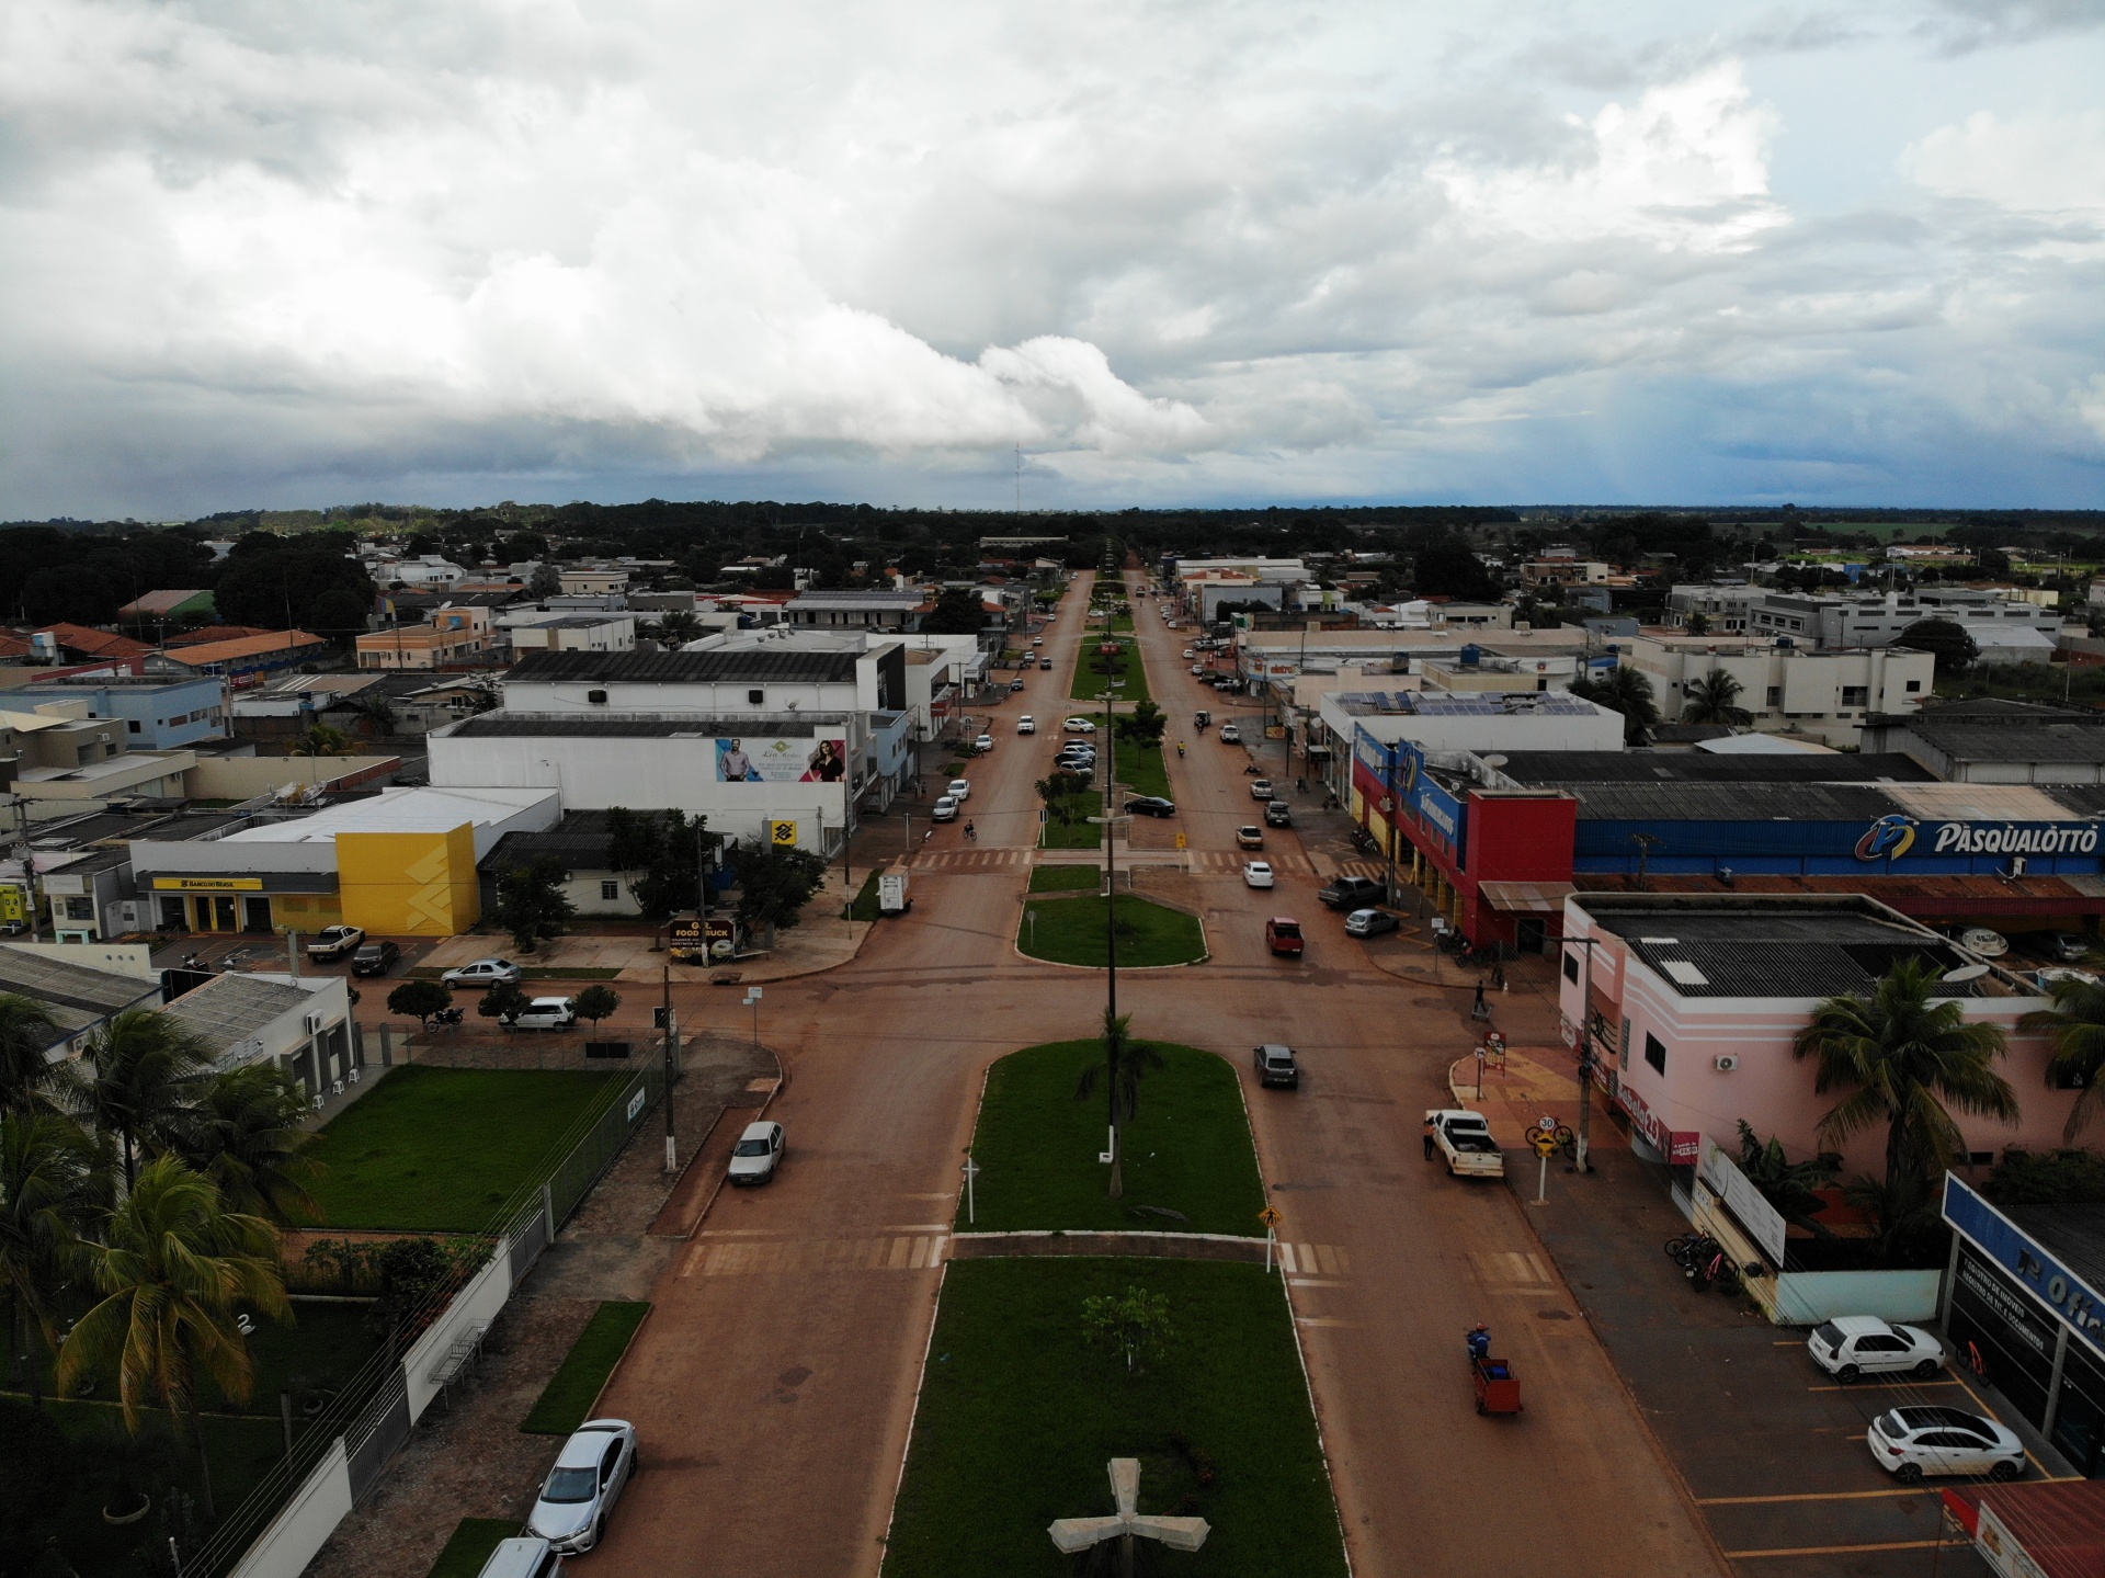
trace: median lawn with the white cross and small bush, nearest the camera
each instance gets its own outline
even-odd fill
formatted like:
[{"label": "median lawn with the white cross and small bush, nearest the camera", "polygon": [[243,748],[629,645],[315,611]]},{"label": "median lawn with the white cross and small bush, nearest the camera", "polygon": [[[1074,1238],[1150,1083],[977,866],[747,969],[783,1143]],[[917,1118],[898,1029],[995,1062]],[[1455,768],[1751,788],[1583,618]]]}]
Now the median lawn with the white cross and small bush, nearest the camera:
[{"label": "median lawn with the white cross and small bush, nearest the camera", "polygon": [[[1128,1285],[1168,1296],[1175,1332],[1130,1378],[1082,1340],[1082,1300]],[[1069,1578],[1046,1525],[1114,1511],[1109,1458],[1141,1460],[1143,1513],[1212,1525],[1196,1555],[1143,1555],[1147,1572],[1343,1578],[1278,1275],[1086,1258],[945,1268],[884,1578]]]}]

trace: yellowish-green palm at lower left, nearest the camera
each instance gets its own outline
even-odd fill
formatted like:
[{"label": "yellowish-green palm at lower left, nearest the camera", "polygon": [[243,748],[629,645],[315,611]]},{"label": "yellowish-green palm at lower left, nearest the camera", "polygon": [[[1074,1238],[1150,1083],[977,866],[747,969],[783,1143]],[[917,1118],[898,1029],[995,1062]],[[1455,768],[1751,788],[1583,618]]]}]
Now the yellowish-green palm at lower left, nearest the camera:
[{"label": "yellowish-green palm at lower left, nearest the camera", "polygon": [[181,1157],[156,1157],[124,1201],[103,1218],[97,1243],[84,1245],[97,1291],[95,1308],[59,1344],[59,1390],[86,1374],[116,1367],[124,1422],[158,1403],[189,1424],[213,1517],[213,1475],[198,1418],[200,1369],[234,1403],[248,1399],[255,1369],[238,1308],[290,1319],[278,1235],[259,1216],[229,1211],[208,1178]]}]

